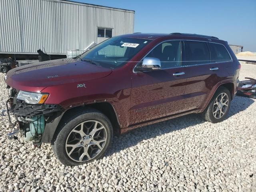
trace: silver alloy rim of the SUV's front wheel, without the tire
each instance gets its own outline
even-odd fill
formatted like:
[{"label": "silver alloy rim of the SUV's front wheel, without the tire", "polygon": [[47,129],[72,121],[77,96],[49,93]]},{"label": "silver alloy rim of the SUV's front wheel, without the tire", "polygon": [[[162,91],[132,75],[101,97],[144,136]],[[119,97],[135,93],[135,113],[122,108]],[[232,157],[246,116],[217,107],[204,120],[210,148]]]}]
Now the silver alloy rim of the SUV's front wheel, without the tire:
[{"label": "silver alloy rim of the SUV's front wheel, without the tire", "polygon": [[100,154],[106,145],[107,131],[105,126],[89,120],[73,128],[66,139],[66,153],[76,162],[89,161]]}]

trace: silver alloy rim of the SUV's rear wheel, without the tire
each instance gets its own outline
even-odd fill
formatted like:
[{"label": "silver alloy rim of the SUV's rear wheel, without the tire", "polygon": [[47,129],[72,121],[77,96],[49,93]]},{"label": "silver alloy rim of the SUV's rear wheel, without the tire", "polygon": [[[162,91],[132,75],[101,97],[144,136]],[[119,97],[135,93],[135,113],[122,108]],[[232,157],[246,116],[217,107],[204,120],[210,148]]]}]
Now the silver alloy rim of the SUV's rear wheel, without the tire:
[{"label": "silver alloy rim of the SUV's rear wheel, without the tire", "polygon": [[226,93],[221,93],[217,96],[214,101],[212,112],[216,119],[221,118],[228,109],[228,95]]}]

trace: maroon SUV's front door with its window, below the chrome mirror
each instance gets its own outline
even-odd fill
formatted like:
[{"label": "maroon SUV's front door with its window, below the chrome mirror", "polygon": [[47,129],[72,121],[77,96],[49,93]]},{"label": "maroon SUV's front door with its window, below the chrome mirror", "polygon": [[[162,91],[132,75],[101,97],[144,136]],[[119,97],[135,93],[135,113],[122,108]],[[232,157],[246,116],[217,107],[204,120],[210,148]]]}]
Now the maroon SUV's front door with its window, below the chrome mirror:
[{"label": "maroon SUV's front door with its window, below the chrome mirror", "polygon": [[[145,122],[186,110],[186,72],[181,67],[181,42],[165,41],[146,57],[158,58],[161,70],[132,72],[130,124]],[[141,65],[139,62],[138,65]],[[185,74],[182,75],[181,72]],[[180,74],[180,75],[179,75]]]}]

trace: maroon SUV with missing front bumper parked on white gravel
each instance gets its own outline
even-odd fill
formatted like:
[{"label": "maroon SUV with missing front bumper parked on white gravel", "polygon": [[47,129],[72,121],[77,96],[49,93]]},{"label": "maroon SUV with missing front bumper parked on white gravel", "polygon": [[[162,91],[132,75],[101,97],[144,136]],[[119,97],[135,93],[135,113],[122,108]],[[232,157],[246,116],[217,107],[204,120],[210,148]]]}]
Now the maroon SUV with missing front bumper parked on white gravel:
[{"label": "maroon SUV with missing front bumper parked on white gravel", "polygon": [[104,155],[113,132],[190,113],[224,120],[239,70],[228,43],[213,36],[116,36],[76,58],[10,70],[7,103],[18,129],[8,138],[22,132],[35,146],[51,142],[66,165],[91,162]]}]

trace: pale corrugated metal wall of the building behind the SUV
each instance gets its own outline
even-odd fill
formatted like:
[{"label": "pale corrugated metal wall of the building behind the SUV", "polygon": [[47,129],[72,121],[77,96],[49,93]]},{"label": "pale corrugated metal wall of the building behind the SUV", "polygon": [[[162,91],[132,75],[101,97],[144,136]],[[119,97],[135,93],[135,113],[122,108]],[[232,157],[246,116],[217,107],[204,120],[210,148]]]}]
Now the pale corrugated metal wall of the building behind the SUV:
[{"label": "pale corrugated metal wall of the building behind the SUV", "polygon": [[0,0],[0,53],[66,54],[84,49],[97,28],[112,28],[112,36],[134,32],[134,11],[60,0]]}]

